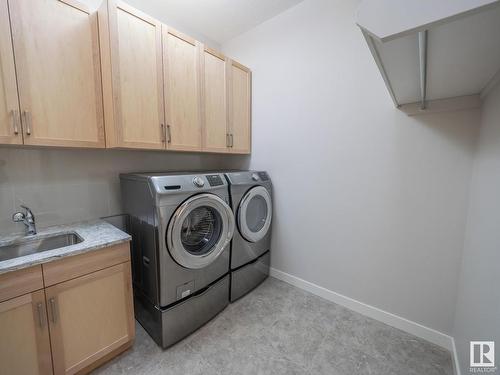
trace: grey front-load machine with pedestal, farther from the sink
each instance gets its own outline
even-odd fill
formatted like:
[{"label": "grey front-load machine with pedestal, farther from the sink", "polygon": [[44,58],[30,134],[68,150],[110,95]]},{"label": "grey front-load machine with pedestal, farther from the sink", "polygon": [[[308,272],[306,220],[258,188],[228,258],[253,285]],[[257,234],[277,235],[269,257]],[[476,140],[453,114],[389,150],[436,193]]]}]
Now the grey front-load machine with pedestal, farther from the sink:
[{"label": "grey front-load machine with pedestal, farther from the sink", "polygon": [[235,301],[269,276],[272,184],[265,171],[232,171],[225,176],[237,227],[230,274],[230,300]]}]

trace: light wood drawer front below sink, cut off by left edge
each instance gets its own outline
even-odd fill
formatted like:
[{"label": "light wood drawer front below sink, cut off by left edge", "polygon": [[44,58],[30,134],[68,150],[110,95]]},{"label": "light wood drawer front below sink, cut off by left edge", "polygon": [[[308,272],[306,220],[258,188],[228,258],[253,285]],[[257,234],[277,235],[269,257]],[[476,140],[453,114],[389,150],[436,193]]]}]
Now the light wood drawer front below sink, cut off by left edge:
[{"label": "light wood drawer front below sink, cut off by left edge", "polygon": [[42,267],[35,266],[0,275],[0,302],[43,289]]}]

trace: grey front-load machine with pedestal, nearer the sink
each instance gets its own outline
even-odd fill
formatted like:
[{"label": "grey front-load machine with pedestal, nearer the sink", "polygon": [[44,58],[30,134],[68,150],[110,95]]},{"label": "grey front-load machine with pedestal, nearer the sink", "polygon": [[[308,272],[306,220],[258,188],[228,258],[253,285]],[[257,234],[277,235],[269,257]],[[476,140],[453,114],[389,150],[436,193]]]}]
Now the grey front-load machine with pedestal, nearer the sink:
[{"label": "grey front-load machine with pedestal, nearer the sink", "polygon": [[163,348],[229,303],[234,215],[217,173],[120,176],[130,216],[136,319]]}]

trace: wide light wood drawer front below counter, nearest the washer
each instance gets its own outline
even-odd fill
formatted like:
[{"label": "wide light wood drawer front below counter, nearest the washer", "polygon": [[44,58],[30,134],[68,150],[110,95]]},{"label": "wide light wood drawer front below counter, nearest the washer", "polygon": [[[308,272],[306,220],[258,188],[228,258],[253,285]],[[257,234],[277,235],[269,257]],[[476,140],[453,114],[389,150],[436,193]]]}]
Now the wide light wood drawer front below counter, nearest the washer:
[{"label": "wide light wood drawer front below counter, nearest the washer", "polygon": [[43,264],[45,286],[51,286],[130,260],[130,245],[123,243],[90,253]]}]

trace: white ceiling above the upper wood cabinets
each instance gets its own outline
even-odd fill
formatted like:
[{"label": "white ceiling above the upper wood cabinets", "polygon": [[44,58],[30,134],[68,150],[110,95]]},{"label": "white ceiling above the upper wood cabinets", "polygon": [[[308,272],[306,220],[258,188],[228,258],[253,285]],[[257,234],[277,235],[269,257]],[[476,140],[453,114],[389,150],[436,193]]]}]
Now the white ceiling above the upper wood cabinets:
[{"label": "white ceiling above the upper wood cabinets", "polygon": [[[93,8],[97,8],[101,3],[101,0],[81,1]],[[301,1],[126,0],[125,2],[197,39],[220,45]]]}]

